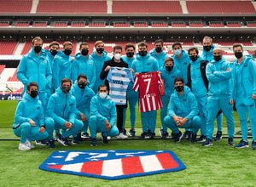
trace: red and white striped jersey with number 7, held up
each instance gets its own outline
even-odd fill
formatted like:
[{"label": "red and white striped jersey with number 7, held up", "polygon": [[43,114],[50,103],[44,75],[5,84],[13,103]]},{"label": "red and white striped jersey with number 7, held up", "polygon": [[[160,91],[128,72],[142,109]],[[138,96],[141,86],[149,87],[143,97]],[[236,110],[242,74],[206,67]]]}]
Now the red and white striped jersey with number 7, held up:
[{"label": "red and white striped jersey with number 7, held up", "polygon": [[161,84],[158,71],[136,75],[133,89],[139,92],[140,112],[155,111],[163,107],[160,97]]}]

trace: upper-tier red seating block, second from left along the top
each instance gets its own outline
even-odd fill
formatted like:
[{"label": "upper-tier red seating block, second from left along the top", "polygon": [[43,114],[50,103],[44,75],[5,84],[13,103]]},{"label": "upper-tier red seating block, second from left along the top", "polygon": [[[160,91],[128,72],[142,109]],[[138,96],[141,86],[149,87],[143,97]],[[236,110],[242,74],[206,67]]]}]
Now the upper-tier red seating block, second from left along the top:
[{"label": "upper-tier red seating block, second from left along the top", "polygon": [[40,0],[37,14],[107,14],[107,2]]}]

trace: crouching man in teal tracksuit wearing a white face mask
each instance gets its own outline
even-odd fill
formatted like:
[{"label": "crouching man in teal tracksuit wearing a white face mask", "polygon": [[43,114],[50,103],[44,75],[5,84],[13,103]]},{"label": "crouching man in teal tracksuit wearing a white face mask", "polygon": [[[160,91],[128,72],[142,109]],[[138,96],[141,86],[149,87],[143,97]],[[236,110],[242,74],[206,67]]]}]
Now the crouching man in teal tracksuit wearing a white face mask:
[{"label": "crouching man in teal tracksuit wearing a white face mask", "polygon": [[99,86],[97,93],[90,101],[89,128],[91,146],[96,146],[96,133],[102,133],[104,144],[108,143],[108,136],[119,135],[119,129],[115,126],[115,102],[109,98],[107,86]]}]

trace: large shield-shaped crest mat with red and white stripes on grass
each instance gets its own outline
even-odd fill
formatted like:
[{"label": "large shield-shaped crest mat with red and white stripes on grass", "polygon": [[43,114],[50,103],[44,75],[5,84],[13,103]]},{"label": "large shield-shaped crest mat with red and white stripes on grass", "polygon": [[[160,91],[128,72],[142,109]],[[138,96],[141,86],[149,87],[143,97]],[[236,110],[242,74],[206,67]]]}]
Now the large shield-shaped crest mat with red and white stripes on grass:
[{"label": "large shield-shaped crest mat with red and white stripes on grass", "polygon": [[93,178],[122,179],[185,169],[170,150],[59,150],[39,169]]}]

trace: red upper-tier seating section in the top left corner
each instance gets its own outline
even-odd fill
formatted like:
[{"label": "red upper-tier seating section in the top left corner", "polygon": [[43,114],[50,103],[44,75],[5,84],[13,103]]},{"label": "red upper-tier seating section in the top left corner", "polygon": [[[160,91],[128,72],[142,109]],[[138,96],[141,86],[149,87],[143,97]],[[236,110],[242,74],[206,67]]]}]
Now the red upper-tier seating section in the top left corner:
[{"label": "red upper-tier seating section in the top left corner", "polygon": [[32,0],[1,0],[0,14],[29,14]]}]

